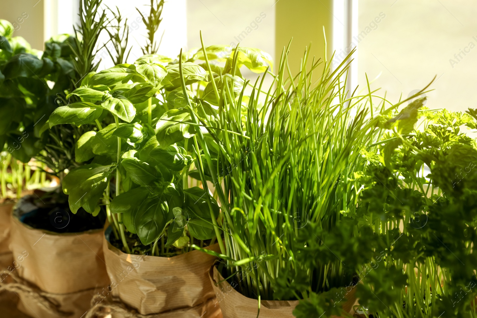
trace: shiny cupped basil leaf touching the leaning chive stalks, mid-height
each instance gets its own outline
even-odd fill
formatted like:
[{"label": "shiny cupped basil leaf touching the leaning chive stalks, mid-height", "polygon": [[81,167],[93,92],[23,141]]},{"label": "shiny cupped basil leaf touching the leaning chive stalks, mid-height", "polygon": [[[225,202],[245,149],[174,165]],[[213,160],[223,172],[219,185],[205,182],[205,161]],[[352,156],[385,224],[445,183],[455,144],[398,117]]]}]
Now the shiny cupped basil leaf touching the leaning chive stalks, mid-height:
[{"label": "shiny cupped basil leaf touching the leaning chive stalks, mid-height", "polygon": [[190,113],[186,109],[171,109],[164,113],[156,124],[157,142],[166,148],[184,138],[191,138],[195,129],[190,122]]}]

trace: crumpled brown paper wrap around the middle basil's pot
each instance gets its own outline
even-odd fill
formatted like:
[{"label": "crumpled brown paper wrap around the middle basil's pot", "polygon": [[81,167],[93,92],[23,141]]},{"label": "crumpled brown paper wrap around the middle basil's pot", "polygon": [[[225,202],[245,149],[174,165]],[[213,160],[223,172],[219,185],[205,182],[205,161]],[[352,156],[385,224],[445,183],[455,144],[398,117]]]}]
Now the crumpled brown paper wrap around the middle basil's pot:
[{"label": "crumpled brown paper wrap around the middle basil's pot", "polygon": [[[212,304],[213,310],[208,310],[204,304],[214,297],[208,270],[215,257],[200,251],[174,257],[125,254],[109,243],[109,233],[110,229],[103,247],[111,286],[104,296],[113,293],[142,315],[179,310],[180,317],[217,317],[219,308]],[[218,251],[218,245],[210,249]]]}]

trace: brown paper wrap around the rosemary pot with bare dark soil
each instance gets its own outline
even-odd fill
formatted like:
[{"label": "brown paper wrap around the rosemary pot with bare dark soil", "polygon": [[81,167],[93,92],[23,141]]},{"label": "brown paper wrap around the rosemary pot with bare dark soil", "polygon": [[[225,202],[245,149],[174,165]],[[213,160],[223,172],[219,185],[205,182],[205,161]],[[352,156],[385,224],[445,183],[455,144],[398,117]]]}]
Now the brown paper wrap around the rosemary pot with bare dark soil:
[{"label": "brown paper wrap around the rosemary pot with bare dark soil", "polygon": [[[36,229],[20,221],[20,215],[28,212],[20,206],[22,203],[23,199],[10,218],[10,250],[18,263],[16,274],[42,291],[57,294],[53,298],[63,311],[75,309],[70,318],[81,317],[90,307],[93,288],[109,284],[103,256],[103,229],[62,234]],[[20,309],[21,303],[23,308],[36,312],[34,317],[40,315],[37,312],[40,309],[35,308],[29,297],[22,298]],[[83,308],[86,309],[80,314]]]}]

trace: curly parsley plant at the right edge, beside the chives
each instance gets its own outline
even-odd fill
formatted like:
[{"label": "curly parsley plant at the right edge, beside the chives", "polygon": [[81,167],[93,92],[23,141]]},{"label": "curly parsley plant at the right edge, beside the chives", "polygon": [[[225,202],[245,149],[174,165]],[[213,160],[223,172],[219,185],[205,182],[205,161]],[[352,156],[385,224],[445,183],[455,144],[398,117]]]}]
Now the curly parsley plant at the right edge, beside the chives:
[{"label": "curly parsley plant at the right edge, beside the chives", "polygon": [[357,290],[366,317],[477,313],[477,144],[464,132],[477,128],[477,113],[429,110],[425,101],[388,119],[389,132],[365,156],[357,216],[383,241]]}]

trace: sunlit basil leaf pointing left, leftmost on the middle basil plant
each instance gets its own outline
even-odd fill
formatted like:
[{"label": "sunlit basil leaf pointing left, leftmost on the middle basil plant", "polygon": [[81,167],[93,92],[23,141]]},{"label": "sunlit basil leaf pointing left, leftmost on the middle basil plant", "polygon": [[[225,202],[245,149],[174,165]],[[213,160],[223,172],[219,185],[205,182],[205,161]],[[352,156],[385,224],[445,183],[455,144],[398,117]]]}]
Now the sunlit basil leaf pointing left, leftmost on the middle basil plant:
[{"label": "sunlit basil leaf pointing left, leftmost on the middle basil plant", "polygon": [[103,109],[93,103],[78,102],[56,108],[50,115],[50,128],[61,123],[84,125],[93,123],[101,116]]}]

